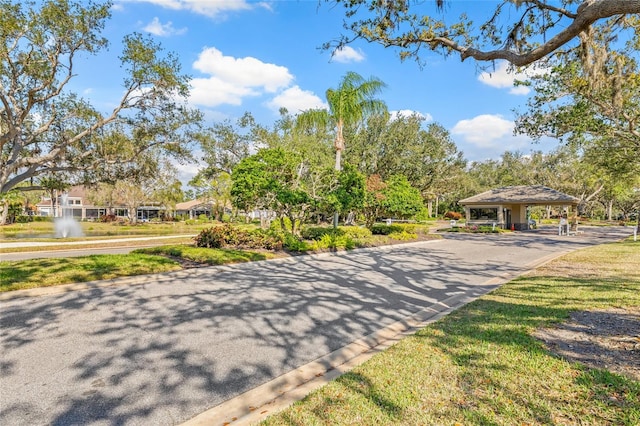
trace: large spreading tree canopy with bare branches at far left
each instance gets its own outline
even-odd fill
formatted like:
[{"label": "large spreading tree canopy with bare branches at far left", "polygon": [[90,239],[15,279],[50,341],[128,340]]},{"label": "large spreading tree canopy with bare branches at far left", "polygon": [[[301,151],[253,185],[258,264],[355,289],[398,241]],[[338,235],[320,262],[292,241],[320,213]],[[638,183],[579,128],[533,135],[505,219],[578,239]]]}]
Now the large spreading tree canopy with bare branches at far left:
[{"label": "large spreading tree canopy with bare branches at far left", "polygon": [[126,77],[110,112],[67,90],[77,58],[107,46],[100,34],[110,7],[0,0],[0,193],[56,173],[73,183],[114,179],[134,172],[149,148],[188,155],[187,130],[200,114],[183,102],[189,80],[177,58],[152,40],[125,37]]}]

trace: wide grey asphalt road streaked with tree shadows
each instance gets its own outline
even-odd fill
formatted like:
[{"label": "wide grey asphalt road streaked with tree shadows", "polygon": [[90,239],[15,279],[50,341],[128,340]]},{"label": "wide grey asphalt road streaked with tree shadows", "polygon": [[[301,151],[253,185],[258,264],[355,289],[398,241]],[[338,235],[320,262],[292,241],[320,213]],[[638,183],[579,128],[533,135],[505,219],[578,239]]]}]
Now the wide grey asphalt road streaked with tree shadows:
[{"label": "wide grey asphalt road streaked with tree shadows", "polygon": [[0,424],[175,425],[584,234],[445,240],[147,276],[0,302]]}]

